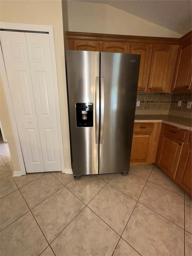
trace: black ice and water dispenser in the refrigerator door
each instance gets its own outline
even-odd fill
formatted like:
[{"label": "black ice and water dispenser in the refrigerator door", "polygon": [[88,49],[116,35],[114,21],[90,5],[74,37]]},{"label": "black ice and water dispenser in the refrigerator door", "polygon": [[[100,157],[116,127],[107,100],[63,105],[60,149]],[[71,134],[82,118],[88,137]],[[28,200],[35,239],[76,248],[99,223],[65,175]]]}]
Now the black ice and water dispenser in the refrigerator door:
[{"label": "black ice and water dispenser in the refrigerator door", "polygon": [[93,127],[93,103],[76,103],[76,126]]}]

